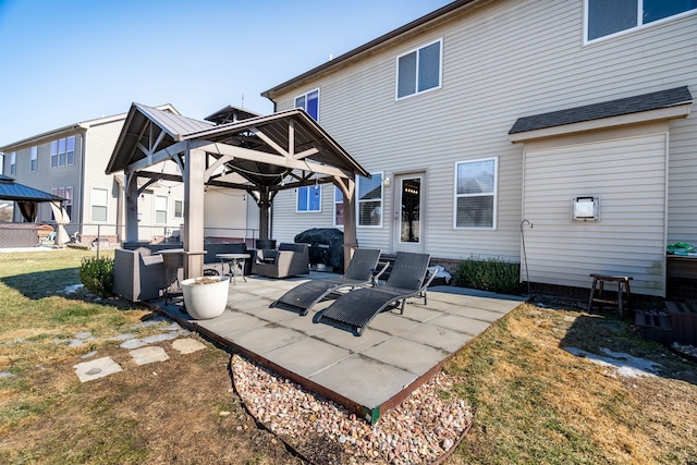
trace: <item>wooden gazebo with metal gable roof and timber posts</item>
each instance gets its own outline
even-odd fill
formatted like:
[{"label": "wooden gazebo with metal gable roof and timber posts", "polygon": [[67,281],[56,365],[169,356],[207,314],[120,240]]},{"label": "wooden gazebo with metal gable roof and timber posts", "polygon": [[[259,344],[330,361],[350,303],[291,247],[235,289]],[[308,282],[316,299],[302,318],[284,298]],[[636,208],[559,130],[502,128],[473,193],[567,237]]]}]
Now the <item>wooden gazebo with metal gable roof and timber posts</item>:
[{"label": "wooden gazebo with metal gable roof and timber posts", "polygon": [[[160,163],[168,160],[181,174],[163,172]],[[129,111],[106,170],[120,171],[125,179],[129,242],[138,240],[140,192],[158,180],[184,183],[185,278],[203,273],[204,209],[189,206],[203,205],[206,185],[246,191],[259,207],[259,237],[268,238],[269,210],[279,191],[331,183],[342,191],[344,211],[351,212],[355,176],[370,175],[301,109],[213,125],[137,103]],[[355,215],[344,215],[347,257],[355,246]]]}]

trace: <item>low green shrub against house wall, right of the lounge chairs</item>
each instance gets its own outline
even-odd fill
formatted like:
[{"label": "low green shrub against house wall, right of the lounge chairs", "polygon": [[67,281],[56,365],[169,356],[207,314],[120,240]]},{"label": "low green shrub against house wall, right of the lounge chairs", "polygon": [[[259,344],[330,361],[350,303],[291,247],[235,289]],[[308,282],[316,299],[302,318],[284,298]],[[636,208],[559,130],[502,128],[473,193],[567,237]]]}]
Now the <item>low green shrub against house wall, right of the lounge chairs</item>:
[{"label": "low green shrub against house wall, right of the lounge chairs", "polygon": [[522,294],[521,265],[500,258],[469,257],[453,268],[455,285],[500,294]]}]

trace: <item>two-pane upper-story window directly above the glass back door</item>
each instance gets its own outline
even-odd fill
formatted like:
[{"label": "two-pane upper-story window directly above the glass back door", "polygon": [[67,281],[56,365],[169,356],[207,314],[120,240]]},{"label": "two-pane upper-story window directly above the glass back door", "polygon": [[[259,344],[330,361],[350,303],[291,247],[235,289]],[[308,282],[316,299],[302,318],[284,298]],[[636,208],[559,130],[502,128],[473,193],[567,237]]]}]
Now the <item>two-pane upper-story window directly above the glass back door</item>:
[{"label": "two-pane upper-story window directly above the glass back door", "polygon": [[442,45],[443,39],[439,39],[398,57],[398,99],[440,87]]}]

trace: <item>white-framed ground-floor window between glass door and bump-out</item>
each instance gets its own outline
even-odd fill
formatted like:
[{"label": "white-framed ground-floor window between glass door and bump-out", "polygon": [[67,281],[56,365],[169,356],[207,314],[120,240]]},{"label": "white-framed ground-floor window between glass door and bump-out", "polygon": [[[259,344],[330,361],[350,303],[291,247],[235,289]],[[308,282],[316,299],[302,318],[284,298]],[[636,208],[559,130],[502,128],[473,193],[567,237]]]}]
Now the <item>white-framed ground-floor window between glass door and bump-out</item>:
[{"label": "white-framed ground-floor window between glass door and bump-out", "polygon": [[455,229],[496,229],[498,158],[455,163]]}]

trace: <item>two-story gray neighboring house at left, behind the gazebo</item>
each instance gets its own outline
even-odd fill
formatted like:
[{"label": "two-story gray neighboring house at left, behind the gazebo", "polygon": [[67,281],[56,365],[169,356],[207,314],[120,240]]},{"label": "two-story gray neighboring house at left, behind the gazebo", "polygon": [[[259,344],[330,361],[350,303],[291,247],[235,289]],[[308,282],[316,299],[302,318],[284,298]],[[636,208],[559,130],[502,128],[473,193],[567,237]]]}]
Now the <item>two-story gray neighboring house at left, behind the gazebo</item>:
[{"label": "two-story gray neighboring house at left, behind the gazebo", "polygon": [[[169,105],[159,109],[179,114]],[[107,175],[105,169],[125,117],[75,123],[0,147],[4,152],[0,171],[22,184],[65,198],[71,218],[69,234],[77,233],[83,242],[97,235],[120,242],[123,176]],[[184,218],[183,198],[181,183],[156,182],[147,186],[138,199],[140,237],[162,240],[178,233]],[[20,211],[14,212],[13,220],[22,221]],[[37,222],[53,222],[48,205],[39,207]]]}]

